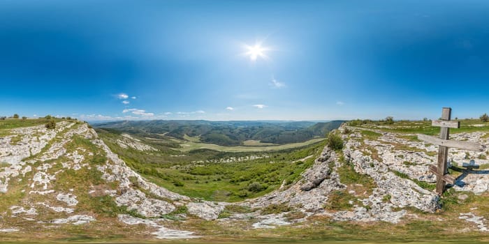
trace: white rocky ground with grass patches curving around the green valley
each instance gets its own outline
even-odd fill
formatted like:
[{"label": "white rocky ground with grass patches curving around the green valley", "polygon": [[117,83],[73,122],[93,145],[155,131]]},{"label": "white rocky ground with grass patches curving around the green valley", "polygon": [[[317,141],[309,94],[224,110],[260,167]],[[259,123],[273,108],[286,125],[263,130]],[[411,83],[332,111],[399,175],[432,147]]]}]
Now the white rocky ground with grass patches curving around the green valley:
[{"label": "white rocky ground with grass patches curving around the green valley", "polygon": [[[451,174],[458,181],[451,196],[440,198],[432,190],[436,178],[428,171],[436,161],[436,146],[375,128],[342,125],[337,133],[344,148],[324,148],[300,181],[258,199],[227,204],[191,199],[146,181],[86,123],[60,121],[55,130],[44,125],[15,128],[0,137],[0,236],[49,238],[46,233],[69,236],[110,229],[107,233],[114,236],[143,239],[198,238],[229,234],[230,229],[297,228],[318,218],[392,224],[448,219],[464,224],[455,231],[488,231],[489,215],[480,206],[480,196],[489,188],[487,149],[451,149]],[[451,138],[489,144],[485,132]],[[156,150],[130,135],[119,143]],[[470,160],[479,169],[462,167]],[[444,211],[455,206],[445,198],[463,207]],[[437,215],[440,211],[444,213]]]}]

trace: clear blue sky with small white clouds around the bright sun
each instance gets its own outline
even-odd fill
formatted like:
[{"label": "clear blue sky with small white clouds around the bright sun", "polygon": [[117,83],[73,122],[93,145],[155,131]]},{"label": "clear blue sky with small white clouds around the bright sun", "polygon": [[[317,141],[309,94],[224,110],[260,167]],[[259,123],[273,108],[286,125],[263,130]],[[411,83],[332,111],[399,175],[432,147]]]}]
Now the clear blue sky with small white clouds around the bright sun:
[{"label": "clear blue sky with small white clouds around the bright sun", "polygon": [[[488,1],[0,1],[0,114],[489,112]],[[245,45],[266,49],[256,60]]]}]

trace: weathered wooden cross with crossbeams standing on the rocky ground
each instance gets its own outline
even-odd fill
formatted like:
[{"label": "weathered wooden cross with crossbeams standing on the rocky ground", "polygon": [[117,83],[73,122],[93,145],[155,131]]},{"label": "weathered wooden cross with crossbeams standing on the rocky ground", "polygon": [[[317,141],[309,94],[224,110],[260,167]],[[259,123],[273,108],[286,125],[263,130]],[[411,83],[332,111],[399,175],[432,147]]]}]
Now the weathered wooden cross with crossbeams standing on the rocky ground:
[{"label": "weathered wooden cross with crossbeams standing on the rocky ground", "polygon": [[450,128],[460,128],[459,121],[451,121],[452,109],[444,107],[441,112],[441,120],[432,121],[432,126],[441,127],[440,137],[430,137],[428,135],[418,134],[418,139],[430,144],[438,145],[438,166],[430,165],[430,171],[437,176],[437,193],[443,194],[446,183],[455,184],[456,178],[448,174],[448,148],[460,148],[471,151],[481,151],[481,145],[475,142],[460,142],[448,140],[450,137]]}]

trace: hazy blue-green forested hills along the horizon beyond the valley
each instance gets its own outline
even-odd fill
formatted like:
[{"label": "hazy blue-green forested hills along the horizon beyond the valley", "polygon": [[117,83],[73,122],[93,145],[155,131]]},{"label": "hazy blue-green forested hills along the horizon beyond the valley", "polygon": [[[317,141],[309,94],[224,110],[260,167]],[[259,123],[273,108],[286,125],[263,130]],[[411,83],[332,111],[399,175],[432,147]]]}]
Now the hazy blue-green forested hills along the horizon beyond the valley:
[{"label": "hazy blue-green forested hills along the horizon beyond the valley", "polygon": [[222,146],[243,145],[247,140],[288,144],[324,137],[344,121],[115,121],[96,123],[95,128],[126,132],[146,137],[161,136],[184,139],[199,137],[200,142]]}]

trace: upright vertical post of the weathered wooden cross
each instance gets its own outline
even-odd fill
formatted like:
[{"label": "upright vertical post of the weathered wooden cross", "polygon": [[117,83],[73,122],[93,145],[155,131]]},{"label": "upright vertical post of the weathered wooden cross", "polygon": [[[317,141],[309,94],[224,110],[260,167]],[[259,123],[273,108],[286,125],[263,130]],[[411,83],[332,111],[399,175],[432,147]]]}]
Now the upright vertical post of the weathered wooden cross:
[{"label": "upright vertical post of the weathered wooden cross", "polygon": [[[449,107],[444,107],[441,112],[441,120],[449,121],[451,119],[452,109]],[[450,128],[441,127],[440,129],[440,139],[448,139],[450,137]],[[439,146],[438,149],[438,175],[444,176],[448,174],[448,169],[446,162],[448,161],[448,147]],[[437,192],[439,195],[443,194],[445,190],[446,183],[442,177],[437,176]]]}]

